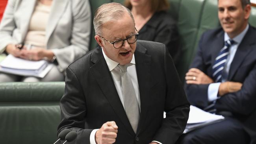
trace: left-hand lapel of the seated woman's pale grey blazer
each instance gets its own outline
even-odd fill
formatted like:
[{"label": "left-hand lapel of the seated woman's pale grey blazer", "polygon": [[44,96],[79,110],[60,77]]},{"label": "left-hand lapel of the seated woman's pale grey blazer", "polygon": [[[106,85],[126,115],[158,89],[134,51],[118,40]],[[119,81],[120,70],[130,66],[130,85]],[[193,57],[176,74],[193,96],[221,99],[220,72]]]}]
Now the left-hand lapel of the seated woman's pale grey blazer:
[{"label": "left-hand lapel of the seated woman's pale grey blazer", "polygon": [[35,9],[35,5],[37,4],[37,0],[26,0],[22,2],[21,7],[24,8],[22,11],[22,17],[20,22],[20,33],[21,33],[21,41],[24,41],[26,34],[28,32],[28,27],[30,24],[30,19],[32,17],[33,11]]}]

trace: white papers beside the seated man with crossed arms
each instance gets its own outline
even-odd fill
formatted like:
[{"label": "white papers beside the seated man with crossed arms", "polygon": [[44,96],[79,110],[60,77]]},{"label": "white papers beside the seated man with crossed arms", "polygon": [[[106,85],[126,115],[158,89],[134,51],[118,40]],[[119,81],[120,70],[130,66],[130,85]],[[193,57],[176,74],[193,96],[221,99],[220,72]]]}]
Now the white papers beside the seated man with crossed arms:
[{"label": "white papers beside the seated man with crossed arms", "polygon": [[211,114],[193,105],[190,105],[189,118],[183,133],[187,133],[209,124],[220,122],[222,120],[224,120],[224,117],[221,115]]}]

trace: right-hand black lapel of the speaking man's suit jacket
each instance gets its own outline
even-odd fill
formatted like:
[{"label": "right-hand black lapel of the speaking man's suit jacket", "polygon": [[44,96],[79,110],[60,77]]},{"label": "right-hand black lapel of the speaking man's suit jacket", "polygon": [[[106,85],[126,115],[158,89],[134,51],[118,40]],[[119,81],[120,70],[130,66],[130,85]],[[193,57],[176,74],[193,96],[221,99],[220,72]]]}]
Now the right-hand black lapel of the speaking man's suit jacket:
[{"label": "right-hand black lapel of the speaking man's suit jacket", "polygon": [[137,128],[137,135],[143,128],[143,124],[145,124],[145,119],[147,117],[147,108],[148,108],[148,96],[150,90],[150,63],[151,56],[145,54],[146,49],[137,42],[137,48],[135,51],[135,63],[136,63],[136,71],[137,78],[139,84],[139,94],[141,100],[141,115],[139,120],[139,125]]}]

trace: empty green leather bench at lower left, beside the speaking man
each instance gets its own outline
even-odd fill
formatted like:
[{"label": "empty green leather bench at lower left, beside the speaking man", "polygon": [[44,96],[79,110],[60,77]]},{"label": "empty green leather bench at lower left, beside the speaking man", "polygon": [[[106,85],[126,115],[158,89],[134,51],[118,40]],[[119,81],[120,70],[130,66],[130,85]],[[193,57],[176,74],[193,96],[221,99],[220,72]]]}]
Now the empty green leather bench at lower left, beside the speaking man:
[{"label": "empty green leather bench at lower left, beside the speaking man", "polygon": [[0,83],[0,143],[53,144],[64,82]]}]

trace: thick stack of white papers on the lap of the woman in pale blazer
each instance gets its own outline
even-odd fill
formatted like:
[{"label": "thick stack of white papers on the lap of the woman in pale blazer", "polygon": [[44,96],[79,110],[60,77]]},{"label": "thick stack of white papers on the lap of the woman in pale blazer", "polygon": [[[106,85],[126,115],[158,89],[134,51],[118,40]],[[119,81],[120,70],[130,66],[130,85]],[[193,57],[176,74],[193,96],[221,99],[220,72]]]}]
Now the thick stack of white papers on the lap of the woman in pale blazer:
[{"label": "thick stack of white papers on the lap of the woman in pale blazer", "polygon": [[9,54],[0,63],[0,71],[20,76],[43,78],[52,69],[52,66],[53,64],[49,64],[45,60],[29,61]]}]

